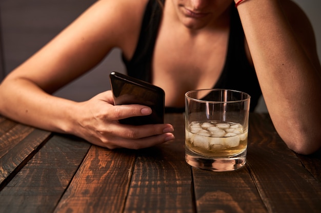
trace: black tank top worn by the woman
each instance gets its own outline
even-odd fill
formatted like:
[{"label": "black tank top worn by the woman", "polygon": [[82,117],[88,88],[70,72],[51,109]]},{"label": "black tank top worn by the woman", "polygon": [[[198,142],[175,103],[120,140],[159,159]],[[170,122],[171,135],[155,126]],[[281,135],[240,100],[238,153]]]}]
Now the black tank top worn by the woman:
[{"label": "black tank top worn by the woman", "polygon": [[[245,36],[238,12],[235,7],[231,7],[231,10],[227,57],[223,72],[214,88],[234,89],[250,94],[250,111],[253,111],[262,92],[258,84],[255,69],[250,65],[246,57]],[[123,62],[129,76],[151,82],[151,63],[161,18],[162,7],[159,6],[156,0],[150,0],[146,6],[135,53],[130,61],[123,57]],[[184,111],[184,109],[167,108],[166,111]]]}]

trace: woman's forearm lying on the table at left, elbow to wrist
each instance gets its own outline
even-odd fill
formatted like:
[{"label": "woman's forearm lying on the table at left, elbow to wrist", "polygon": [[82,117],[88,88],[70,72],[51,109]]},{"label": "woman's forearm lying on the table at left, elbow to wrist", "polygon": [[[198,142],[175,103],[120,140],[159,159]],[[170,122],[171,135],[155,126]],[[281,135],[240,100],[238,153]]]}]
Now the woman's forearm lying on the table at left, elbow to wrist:
[{"label": "woman's forearm lying on the table at left, elbow to wrist", "polygon": [[53,97],[27,79],[4,80],[0,85],[0,113],[42,129],[71,133],[75,102]]}]

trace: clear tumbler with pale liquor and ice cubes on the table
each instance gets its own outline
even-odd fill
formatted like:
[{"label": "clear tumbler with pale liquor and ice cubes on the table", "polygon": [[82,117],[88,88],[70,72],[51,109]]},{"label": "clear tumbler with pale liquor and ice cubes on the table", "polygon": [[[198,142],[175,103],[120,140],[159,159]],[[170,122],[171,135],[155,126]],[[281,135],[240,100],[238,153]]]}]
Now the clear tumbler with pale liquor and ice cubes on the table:
[{"label": "clear tumbler with pale liquor and ice cubes on the table", "polygon": [[233,171],[244,167],[249,94],[199,89],[185,94],[185,159],[192,167]]}]

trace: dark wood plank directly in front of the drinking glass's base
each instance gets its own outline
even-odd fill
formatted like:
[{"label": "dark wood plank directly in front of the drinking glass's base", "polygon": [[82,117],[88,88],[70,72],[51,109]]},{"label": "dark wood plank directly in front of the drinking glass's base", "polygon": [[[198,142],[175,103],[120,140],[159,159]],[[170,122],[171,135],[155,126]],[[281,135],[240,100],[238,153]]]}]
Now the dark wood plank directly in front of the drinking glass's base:
[{"label": "dark wood plank directly in front of the drinking glass's base", "polygon": [[232,172],[192,171],[197,212],[268,212],[246,167]]}]

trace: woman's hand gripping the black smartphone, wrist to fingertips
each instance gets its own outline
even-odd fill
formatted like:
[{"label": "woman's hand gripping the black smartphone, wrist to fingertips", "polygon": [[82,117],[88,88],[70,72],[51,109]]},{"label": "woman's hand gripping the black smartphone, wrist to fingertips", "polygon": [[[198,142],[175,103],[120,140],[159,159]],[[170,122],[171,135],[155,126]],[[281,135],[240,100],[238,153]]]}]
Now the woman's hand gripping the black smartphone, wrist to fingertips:
[{"label": "woman's hand gripping the black smartphone, wrist to fingertips", "polygon": [[97,94],[89,101],[79,103],[77,108],[77,130],[71,130],[71,133],[98,146],[141,149],[174,139],[174,128],[170,124],[120,124],[120,119],[148,115],[151,109],[142,105],[114,106],[111,91]]}]

